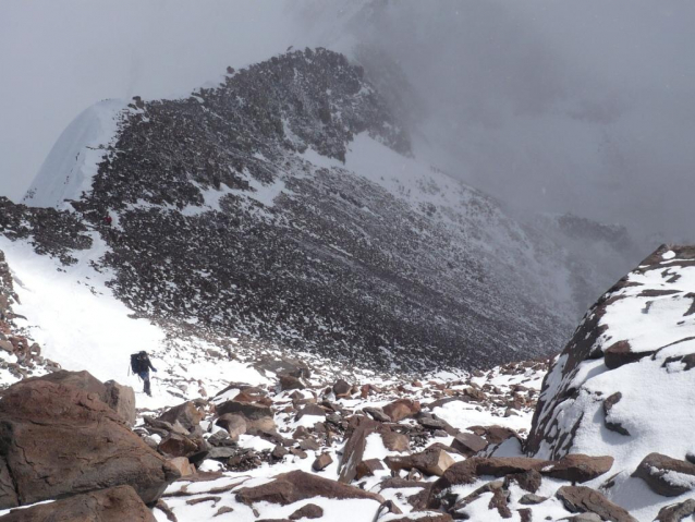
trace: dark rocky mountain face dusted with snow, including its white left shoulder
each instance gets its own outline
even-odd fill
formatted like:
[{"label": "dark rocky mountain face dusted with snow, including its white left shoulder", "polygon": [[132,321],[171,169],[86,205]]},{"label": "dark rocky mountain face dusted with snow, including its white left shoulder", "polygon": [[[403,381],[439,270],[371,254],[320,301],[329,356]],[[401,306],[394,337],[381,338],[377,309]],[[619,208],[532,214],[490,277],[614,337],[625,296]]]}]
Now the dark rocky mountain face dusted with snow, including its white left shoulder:
[{"label": "dark rocky mountain face dusted with snow, including its white left shoulder", "polygon": [[363,70],[324,49],[95,106],[25,202],[98,233],[92,263],[136,317],[381,368],[545,355],[595,267],[419,163]]}]

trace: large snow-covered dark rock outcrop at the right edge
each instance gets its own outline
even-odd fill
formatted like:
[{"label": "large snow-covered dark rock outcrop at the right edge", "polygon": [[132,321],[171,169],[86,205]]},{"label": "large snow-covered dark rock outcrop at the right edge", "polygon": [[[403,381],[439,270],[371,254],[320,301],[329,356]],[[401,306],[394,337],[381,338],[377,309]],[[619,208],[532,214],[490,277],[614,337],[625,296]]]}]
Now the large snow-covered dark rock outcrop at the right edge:
[{"label": "large snow-covered dark rock outcrop at the right edge", "polygon": [[552,364],[528,438],[538,458],[613,456],[602,490],[639,520],[695,487],[694,275],[693,247],[662,246],[603,294]]}]

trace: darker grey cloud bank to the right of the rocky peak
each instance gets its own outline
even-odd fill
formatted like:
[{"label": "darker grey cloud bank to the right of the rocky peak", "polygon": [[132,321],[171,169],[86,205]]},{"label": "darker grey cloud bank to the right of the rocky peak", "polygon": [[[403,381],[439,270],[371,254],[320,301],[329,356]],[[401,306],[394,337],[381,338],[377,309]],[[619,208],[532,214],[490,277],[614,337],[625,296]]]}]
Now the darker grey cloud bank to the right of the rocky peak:
[{"label": "darker grey cloud bank to the right of the rocky peak", "polygon": [[450,173],[679,240],[693,238],[693,23],[686,1],[400,0],[351,29],[401,65],[426,106],[420,154]]}]

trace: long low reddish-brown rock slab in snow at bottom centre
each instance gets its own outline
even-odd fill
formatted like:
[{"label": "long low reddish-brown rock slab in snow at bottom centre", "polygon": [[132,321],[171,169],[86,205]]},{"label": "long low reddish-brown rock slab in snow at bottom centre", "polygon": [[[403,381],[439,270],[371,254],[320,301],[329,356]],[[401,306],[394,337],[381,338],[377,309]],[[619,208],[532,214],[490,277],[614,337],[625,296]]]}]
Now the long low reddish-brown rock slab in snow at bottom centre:
[{"label": "long low reddish-brown rock slab in snow at bottom centre", "polygon": [[244,487],[236,493],[236,499],[248,506],[264,501],[286,506],[314,497],[358,498],[383,502],[380,495],[303,471],[283,473],[276,476],[272,482],[256,487]]}]

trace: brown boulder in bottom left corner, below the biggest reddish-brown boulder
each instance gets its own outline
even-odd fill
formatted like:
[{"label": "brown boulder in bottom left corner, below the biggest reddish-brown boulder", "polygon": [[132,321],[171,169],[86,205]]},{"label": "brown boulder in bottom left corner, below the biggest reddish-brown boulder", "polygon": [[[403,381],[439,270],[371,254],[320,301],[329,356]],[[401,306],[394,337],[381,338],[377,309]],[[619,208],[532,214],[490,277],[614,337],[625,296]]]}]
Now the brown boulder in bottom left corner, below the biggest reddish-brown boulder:
[{"label": "brown boulder in bottom left corner, below the biggest reddish-brown boulder", "polygon": [[156,522],[131,486],[75,495],[10,511],[0,522]]}]

